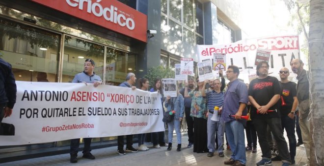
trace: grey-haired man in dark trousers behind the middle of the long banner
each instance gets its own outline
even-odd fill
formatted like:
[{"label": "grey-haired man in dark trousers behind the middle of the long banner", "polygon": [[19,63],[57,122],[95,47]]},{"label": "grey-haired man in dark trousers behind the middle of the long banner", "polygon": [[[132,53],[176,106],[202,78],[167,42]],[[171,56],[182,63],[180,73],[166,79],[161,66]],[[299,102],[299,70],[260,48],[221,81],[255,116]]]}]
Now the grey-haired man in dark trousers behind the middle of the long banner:
[{"label": "grey-haired man in dark trousers behind the middle of the long banner", "polygon": [[[126,81],[119,84],[122,87],[130,87],[132,90],[136,89],[135,85],[136,77],[134,73],[128,73],[126,76]],[[120,135],[117,137],[118,149],[117,153],[120,155],[125,155],[124,151],[124,136]],[[127,152],[137,152],[138,150],[133,147],[133,135],[126,135],[126,151]]]}]

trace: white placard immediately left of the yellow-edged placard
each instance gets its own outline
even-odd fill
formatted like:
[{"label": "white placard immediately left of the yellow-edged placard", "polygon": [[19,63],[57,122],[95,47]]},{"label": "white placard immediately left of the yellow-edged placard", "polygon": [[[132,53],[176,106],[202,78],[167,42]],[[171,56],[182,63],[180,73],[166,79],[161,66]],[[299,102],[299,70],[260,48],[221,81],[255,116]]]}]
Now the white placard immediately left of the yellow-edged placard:
[{"label": "white placard immediately left of the yellow-edged placard", "polygon": [[207,60],[203,62],[198,62],[198,75],[199,75],[199,81],[205,81],[213,79],[213,68],[212,68],[212,61]]}]

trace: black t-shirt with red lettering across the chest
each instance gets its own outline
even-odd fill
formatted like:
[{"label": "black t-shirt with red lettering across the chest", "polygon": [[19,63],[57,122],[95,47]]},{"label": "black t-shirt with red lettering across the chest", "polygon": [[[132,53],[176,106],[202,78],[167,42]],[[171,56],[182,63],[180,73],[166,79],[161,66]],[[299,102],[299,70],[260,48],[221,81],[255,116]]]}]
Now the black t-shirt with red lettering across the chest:
[{"label": "black t-shirt with red lettering across the chest", "polygon": [[[280,95],[281,88],[277,78],[268,76],[264,79],[254,79],[249,84],[248,95],[252,96],[254,100],[259,105],[267,105],[271,98],[274,95]],[[268,114],[257,114],[257,109],[252,106],[251,107],[251,119],[253,118],[278,118],[280,117],[280,113],[278,110],[279,101],[272,105],[269,110],[277,110],[277,112],[268,112]]]}]

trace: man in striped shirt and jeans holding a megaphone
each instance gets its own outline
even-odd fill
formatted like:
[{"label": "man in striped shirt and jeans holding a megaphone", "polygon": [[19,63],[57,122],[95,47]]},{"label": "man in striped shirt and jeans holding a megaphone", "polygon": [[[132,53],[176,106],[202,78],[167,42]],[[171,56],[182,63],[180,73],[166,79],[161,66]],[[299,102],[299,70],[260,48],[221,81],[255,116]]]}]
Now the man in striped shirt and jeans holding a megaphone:
[{"label": "man in striped shirt and jeans holding a megaphone", "polygon": [[[224,157],[223,144],[224,144],[224,122],[213,121],[215,106],[221,107],[224,102],[224,92],[220,91],[222,84],[218,79],[210,83],[213,89],[206,90],[207,105],[208,105],[208,120],[207,120],[207,147],[209,152],[208,157],[214,156],[215,151],[215,132],[217,133],[218,156]],[[217,112],[220,115],[220,112]]]}]

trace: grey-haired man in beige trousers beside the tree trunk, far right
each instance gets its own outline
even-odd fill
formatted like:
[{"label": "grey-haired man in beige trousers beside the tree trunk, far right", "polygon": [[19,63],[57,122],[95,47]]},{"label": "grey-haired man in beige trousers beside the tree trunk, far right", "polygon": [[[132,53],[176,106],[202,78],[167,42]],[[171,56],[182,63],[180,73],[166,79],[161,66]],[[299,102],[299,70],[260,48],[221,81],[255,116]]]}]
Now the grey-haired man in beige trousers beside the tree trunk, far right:
[{"label": "grey-haired man in beige trousers beside the tree trunk, far right", "polygon": [[310,124],[307,121],[307,116],[310,110],[310,100],[309,100],[309,81],[306,70],[303,68],[304,63],[295,59],[290,62],[290,66],[295,74],[297,74],[297,99],[298,99],[298,112],[299,112],[299,126],[301,130],[302,141],[305,146],[307,155],[307,164],[310,164],[310,145],[312,144],[312,139],[310,135]]}]

